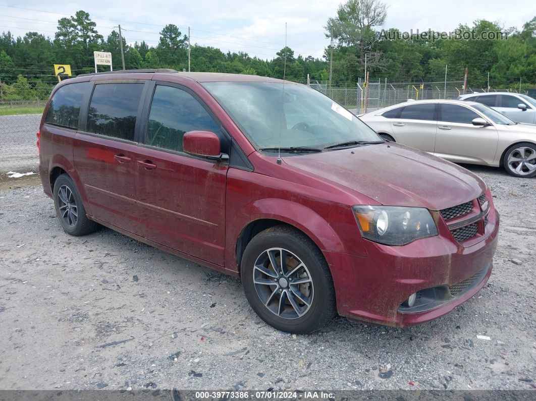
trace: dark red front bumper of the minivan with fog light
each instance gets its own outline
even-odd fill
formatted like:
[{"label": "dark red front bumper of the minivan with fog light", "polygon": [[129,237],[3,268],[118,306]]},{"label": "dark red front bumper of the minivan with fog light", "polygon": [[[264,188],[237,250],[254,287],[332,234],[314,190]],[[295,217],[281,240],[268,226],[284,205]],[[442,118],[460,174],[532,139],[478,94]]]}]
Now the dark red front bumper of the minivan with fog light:
[{"label": "dark red front bumper of the minivan with fog light", "polygon": [[[364,240],[367,257],[325,252],[336,290],[338,313],[348,319],[394,327],[424,323],[449,313],[473,297],[488,281],[497,247],[498,226],[499,215],[492,210],[486,235],[470,246],[461,246],[449,238],[448,233],[440,231],[438,236],[403,246]],[[460,283],[468,284],[459,291]],[[435,303],[428,302],[420,310],[400,307],[411,294],[425,289],[438,289]],[[442,290],[446,293],[441,296]]]}]

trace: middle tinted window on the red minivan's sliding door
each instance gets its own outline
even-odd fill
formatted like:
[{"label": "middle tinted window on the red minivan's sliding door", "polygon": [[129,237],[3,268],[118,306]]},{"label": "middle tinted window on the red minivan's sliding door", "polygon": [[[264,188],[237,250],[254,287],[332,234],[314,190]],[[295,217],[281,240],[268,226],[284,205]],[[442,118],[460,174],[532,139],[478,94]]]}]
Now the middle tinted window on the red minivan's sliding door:
[{"label": "middle tinted window on the red minivan's sliding door", "polygon": [[87,131],[133,141],[143,85],[95,85],[87,114]]}]

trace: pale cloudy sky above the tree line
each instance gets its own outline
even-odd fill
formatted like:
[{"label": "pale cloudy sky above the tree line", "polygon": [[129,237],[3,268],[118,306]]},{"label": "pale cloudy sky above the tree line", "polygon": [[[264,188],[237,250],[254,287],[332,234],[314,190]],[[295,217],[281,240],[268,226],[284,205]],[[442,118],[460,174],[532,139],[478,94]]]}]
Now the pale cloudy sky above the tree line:
[{"label": "pale cloudy sky above the tree line", "polygon": [[[250,55],[271,59],[285,44],[296,54],[321,57],[329,44],[323,27],[336,16],[340,0],[93,0],[57,2],[51,0],[8,0],[0,5],[0,31],[22,36],[36,31],[54,37],[59,18],[77,10],[90,13],[98,31],[107,36],[117,24],[125,29],[127,42],[145,40],[157,44],[166,24],[175,24],[183,33],[191,27],[191,40],[223,51],[247,51]],[[385,28],[401,31],[428,28],[452,31],[460,23],[475,19],[498,21],[505,28],[521,28],[536,16],[533,0],[517,0],[515,7],[504,0],[386,0],[389,6]]]}]

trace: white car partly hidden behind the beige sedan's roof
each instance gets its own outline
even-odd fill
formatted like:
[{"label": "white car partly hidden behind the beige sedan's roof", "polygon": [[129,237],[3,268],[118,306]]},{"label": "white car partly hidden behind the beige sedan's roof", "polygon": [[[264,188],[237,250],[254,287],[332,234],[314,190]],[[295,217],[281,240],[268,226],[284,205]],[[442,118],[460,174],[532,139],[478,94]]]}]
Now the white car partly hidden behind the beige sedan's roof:
[{"label": "white car partly hidden behind the beige sedan's roof", "polygon": [[527,95],[486,92],[461,95],[458,99],[485,104],[516,123],[536,124],[536,100]]}]

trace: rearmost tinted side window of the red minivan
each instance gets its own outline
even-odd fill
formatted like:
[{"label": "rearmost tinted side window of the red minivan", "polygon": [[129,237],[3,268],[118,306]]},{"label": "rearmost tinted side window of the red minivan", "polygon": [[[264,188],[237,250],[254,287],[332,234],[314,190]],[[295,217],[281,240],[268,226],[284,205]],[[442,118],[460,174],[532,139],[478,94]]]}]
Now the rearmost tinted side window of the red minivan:
[{"label": "rearmost tinted side window of the red minivan", "polygon": [[78,130],[80,104],[91,85],[91,82],[80,82],[59,88],[50,101],[44,121],[47,124]]}]

